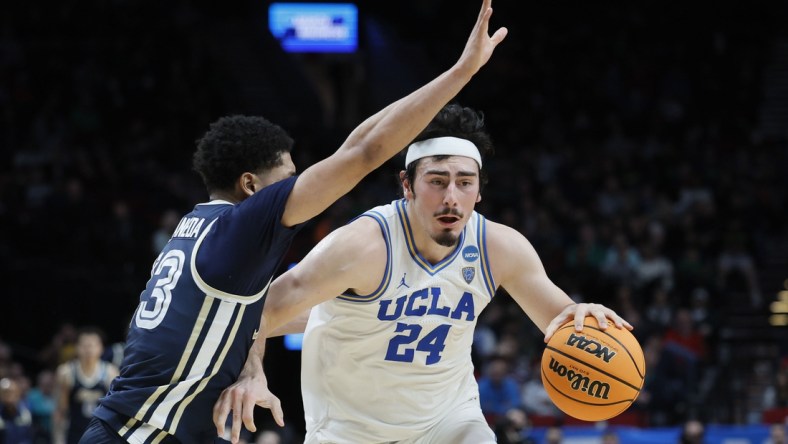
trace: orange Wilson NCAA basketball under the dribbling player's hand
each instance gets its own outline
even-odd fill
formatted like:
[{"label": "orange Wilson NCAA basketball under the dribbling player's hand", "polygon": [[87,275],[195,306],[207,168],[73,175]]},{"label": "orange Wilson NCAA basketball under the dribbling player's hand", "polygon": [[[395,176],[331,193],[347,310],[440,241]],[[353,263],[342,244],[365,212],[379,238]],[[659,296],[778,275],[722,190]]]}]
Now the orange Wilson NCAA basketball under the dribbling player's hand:
[{"label": "orange Wilson NCAA basketball under the dribbling player's hand", "polygon": [[561,326],[542,354],[542,383],[553,403],[583,421],[603,421],[626,410],[640,394],[646,375],[643,349],[625,328],[599,328],[585,318]]}]

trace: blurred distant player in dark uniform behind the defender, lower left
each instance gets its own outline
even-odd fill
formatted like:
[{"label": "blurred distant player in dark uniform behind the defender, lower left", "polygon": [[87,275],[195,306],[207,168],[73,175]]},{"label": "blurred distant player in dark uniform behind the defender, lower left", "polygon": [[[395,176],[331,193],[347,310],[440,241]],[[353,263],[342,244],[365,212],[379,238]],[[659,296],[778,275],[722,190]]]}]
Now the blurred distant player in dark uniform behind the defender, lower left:
[{"label": "blurred distant player in dark uniform behind the defender, lower left", "polygon": [[54,444],[76,444],[88,426],[98,400],[109,390],[118,368],[101,358],[104,334],[95,327],[77,332],[76,358],[57,369]]}]

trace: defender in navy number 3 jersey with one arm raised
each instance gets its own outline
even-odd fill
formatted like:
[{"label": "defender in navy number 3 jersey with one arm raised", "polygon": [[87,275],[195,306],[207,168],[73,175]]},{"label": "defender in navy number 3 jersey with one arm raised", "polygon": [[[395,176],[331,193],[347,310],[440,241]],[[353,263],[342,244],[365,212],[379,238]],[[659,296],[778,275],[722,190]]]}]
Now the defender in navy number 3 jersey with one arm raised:
[{"label": "defender in navy number 3 jersey with one arm raised", "polygon": [[181,219],[154,262],[120,376],[81,442],[191,444],[216,436],[212,408],[241,373],[293,236],[401,150],[487,63],[507,32],[488,34],[490,1],[451,68],[369,117],[300,175],[293,141],[279,126],[244,116],[211,125],[194,155],[210,201]]}]

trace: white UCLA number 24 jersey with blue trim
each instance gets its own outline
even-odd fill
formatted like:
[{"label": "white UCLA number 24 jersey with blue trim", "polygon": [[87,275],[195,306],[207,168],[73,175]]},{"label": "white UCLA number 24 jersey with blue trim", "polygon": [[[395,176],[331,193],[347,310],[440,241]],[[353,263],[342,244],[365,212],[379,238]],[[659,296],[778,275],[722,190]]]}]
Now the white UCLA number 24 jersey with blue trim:
[{"label": "white UCLA number 24 jersey with blue trim", "polygon": [[388,260],[378,289],[313,308],[304,336],[307,442],[399,441],[478,397],[471,346],[495,293],[485,219],[474,212],[457,248],[437,264],[413,242],[405,200],[367,211]]}]

